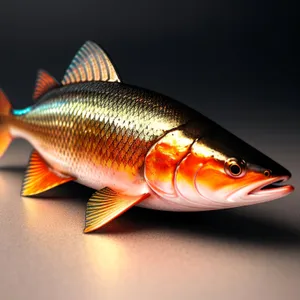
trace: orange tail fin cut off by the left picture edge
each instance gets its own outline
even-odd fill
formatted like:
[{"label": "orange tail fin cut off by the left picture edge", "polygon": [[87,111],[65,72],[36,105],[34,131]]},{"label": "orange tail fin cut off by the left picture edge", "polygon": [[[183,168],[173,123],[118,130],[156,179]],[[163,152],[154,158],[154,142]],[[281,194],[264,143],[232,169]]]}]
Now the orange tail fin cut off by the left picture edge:
[{"label": "orange tail fin cut off by the left picture edge", "polygon": [[8,131],[8,116],[11,112],[11,104],[0,89],[0,157],[4,154],[12,141],[12,137]]}]

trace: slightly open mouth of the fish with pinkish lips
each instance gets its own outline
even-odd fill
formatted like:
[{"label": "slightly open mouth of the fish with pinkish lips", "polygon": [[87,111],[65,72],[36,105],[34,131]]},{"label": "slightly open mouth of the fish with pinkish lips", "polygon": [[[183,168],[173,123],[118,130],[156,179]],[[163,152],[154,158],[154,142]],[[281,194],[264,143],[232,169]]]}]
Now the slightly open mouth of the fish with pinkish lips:
[{"label": "slightly open mouth of the fish with pinkish lips", "polygon": [[290,179],[290,176],[278,176],[270,178],[263,183],[259,183],[254,189],[252,189],[248,195],[255,197],[283,197],[294,191],[292,185],[284,185]]}]

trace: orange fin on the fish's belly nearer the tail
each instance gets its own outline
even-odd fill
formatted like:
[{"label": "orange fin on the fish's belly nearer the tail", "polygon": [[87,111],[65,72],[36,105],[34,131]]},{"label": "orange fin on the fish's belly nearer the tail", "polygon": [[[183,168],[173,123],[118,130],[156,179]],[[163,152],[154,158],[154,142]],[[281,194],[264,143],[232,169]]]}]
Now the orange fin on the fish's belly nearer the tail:
[{"label": "orange fin on the fish's belly nearer the tail", "polygon": [[51,170],[37,151],[33,151],[25,174],[22,196],[33,196],[56,186],[73,181],[75,178]]}]

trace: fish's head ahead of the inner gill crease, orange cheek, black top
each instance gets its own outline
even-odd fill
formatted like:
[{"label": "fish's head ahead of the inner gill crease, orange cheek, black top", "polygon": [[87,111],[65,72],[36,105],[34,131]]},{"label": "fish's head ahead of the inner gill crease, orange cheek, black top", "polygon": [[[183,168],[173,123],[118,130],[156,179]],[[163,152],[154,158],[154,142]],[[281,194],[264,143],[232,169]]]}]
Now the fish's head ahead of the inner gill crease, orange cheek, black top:
[{"label": "fish's head ahead of the inner gill crease, orange cheek, black top", "polygon": [[182,163],[182,169],[191,170],[185,171],[189,186],[187,180],[185,186],[180,184],[180,176],[177,185],[194,205],[201,201],[217,208],[251,205],[294,190],[285,185],[291,177],[286,168],[222,127],[199,138]]}]

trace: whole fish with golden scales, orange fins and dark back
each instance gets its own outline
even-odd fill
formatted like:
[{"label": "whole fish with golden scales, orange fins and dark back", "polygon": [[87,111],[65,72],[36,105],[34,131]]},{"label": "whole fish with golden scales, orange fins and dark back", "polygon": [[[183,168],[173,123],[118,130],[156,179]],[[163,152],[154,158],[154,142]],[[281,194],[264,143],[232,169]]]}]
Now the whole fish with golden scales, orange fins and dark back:
[{"label": "whole fish with golden scales, orange fins and dark back", "polygon": [[286,196],[285,168],[193,109],[121,83],[105,52],[86,42],[62,83],[38,73],[35,104],[13,110],[0,93],[0,155],[21,137],[36,149],[22,195],[68,181],[97,190],[85,232],[134,205],[201,211]]}]

